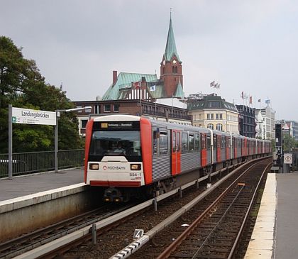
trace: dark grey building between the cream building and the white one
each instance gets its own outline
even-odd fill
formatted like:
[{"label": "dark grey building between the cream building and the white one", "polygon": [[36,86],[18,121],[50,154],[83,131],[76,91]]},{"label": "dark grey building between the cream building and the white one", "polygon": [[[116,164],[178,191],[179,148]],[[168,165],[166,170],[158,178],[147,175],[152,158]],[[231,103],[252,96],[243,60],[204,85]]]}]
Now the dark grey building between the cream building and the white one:
[{"label": "dark grey building between the cream building and the white one", "polygon": [[237,104],[236,108],[239,112],[239,134],[255,138],[255,108]]}]

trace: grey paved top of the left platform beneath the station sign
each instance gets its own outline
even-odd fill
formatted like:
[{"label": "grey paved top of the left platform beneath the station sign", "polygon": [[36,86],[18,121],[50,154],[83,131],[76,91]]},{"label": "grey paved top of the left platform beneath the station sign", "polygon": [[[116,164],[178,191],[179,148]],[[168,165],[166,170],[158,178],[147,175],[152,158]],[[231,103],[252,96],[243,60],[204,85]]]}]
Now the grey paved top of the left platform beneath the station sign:
[{"label": "grey paved top of the left platform beneath the station sign", "polygon": [[84,170],[82,168],[60,170],[58,173],[46,172],[13,177],[13,180],[3,179],[0,180],[0,201],[82,182],[84,182]]}]

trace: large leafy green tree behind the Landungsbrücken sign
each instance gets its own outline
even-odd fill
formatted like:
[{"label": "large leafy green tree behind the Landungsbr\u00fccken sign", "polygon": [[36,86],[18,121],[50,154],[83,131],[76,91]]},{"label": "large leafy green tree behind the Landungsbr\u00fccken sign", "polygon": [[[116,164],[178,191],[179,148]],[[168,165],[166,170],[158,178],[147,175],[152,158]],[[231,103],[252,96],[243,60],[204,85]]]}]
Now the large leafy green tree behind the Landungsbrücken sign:
[{"label": "large leafy green tree behind the Landungsbr\u00fccken sign", "polygon": [[[34,60],[26,60],[10,38],[0,37],[0,153],[8,151],[8,105],[55,111],[71,109],[65,92],[46,84]],[[58,145],[82,148],[78,121],[73,113],[61,114]],[[13,124],[13,152],[54,149],[54,127]]]}]

